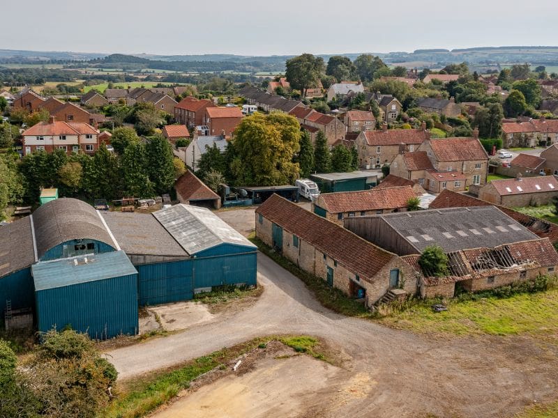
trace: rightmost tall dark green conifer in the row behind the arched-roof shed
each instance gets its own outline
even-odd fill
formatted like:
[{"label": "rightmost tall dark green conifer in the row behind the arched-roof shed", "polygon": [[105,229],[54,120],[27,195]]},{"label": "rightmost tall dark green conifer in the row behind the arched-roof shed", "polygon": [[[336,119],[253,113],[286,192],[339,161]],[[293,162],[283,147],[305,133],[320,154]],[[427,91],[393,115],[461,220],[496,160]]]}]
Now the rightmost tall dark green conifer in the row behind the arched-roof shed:
[{"label": "rightmost tall dark green conifer in the row behind the arched-roof shed", "polygon": [[174,185],[174,155],[169,141],[161,135],[150,137],[145,145],[149,179],[158,194],[168,193]]}]

